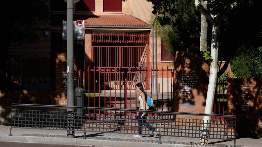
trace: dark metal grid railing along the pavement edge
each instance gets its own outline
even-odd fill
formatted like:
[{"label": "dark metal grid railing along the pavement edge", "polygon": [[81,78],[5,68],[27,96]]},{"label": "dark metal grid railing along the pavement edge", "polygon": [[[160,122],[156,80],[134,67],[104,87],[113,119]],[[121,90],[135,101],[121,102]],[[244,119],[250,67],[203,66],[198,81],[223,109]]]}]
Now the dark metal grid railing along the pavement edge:
[{"label": "dark metal grid railing along the pavement edge", "polygon": [[[67,108],[74,108],[74,121],[68,128]],[[203,125],[208,126],[205,139],[234,140],[236,116],[202,113],[166,112],[146,110],[143,117],[136,113],[144,110],[73,107],[55,105],[12,104],[12,128],[54,129],[86,132],[110,132],[124,134],[203,138]],[[224,117],[222,121],[203,120],[203,116]],[[140,118],[139,118],[140,117]],[[139,118],[139,119],[138,119]],[[138,127],[138,126],[142,127]],[[155,133],[156,132],[156,133]]]}]

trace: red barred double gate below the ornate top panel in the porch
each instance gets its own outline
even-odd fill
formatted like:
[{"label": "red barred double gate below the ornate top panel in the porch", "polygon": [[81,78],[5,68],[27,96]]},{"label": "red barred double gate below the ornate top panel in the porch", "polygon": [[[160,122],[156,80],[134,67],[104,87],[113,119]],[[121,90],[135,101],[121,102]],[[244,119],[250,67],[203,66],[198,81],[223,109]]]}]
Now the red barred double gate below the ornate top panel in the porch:
[{"label": "red barred double gate below the ornate top panel in the porch", "polygon": [[[109,90],[109,87],[111,89],[124,89],[121,85],[127,79],[131,81],[129,87],[132,89],[135,89],[137,81],[148,89],[149,83],[146,83],[146,72],[131,72],[130,75],[127,75],[129,67],[131,70],[146,69],[146,50],[147,47],[143,46],[93,46],[93,64],[100,69],[100,72],[95,74],[100,75],[105,80],[105,82],[99,80],[97,86],[103,90]],[[115,72],[120,68],[123,70],[121,73]],[[101,72],[104,73],[101,74]],[[103,85],[104,83],[105,85]]]}]

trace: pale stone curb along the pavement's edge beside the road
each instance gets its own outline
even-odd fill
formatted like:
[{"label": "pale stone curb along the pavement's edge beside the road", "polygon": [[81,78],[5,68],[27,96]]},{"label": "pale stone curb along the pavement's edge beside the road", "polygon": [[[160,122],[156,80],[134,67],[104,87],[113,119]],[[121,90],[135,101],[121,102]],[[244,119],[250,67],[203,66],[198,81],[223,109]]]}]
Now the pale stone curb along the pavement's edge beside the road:
[{"label": "pale stone curb along the pavement's edge beside the road", "polygon": [[180,144],[157,144],[157,143],[141,143],[114,140],[93,140],[79,138],[58,138],[58,137],[34,137],[34,136],[6,136],[0,135],[0,141],[7,142],[25,142],[25,143],[46,143],[59,145],[85,145],[85,146],[106,146],[106,147],[201,147],[196,145],[180,145]]}]

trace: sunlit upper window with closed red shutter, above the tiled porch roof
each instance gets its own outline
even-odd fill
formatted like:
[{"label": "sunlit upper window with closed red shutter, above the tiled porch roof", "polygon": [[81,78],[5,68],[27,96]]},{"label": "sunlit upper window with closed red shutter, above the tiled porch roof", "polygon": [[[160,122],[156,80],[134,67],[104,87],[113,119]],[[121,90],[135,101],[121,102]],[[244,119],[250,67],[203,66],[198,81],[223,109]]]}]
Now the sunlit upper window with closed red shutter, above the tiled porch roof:
[{"label": "sunlit upper window with closed red shutter, above the tiled porch roof", "polygon": [[122,12],[122,0],[104,0],[104,12]]}]

